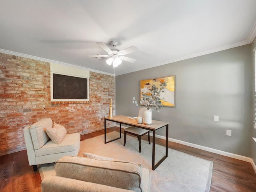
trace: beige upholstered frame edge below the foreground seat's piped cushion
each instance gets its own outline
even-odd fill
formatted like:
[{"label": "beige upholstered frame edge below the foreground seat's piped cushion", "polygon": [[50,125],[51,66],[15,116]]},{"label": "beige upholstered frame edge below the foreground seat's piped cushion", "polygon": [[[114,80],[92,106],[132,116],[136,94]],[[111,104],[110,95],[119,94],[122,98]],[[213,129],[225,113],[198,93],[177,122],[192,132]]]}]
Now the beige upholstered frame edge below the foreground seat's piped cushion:
[{"label": "beige upholstered frame edge below the foreground seat's piped cushion", "polygon": [[41,182],[42,192],[132,192],[111,186],[59,176],[49,176]]}]

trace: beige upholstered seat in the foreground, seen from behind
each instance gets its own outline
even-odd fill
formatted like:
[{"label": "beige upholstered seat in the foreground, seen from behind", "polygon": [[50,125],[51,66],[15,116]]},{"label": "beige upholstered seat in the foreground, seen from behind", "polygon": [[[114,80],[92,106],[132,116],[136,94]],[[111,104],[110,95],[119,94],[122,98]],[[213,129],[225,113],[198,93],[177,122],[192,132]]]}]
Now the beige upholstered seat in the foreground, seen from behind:
[{"label": "beige upholstered seat in the foreground, seen from behind", "polygon": [[42,192],[149,192],[150,170],[132,162],[64,156]]}]

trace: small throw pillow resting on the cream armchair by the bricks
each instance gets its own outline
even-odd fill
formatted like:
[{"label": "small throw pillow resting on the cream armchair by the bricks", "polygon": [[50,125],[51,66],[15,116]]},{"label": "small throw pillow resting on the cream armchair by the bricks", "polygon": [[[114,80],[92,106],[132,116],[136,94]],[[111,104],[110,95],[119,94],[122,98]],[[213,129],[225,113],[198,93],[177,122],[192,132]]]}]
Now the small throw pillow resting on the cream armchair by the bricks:
[{"label": "small throw pillow resting on the cream armchair by the bricks", "polygon": [[54,127],[46,128],[46,133],[54,143],[60,144],[64,136],[67,134],[67,130],[64,126],[54,123]]}]

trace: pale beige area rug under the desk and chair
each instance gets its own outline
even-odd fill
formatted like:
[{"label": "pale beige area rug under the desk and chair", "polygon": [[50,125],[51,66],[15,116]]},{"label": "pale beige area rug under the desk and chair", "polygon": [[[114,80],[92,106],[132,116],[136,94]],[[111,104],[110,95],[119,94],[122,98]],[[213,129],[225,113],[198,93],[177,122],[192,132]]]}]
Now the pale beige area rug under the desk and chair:
[{"label": "pale beige area rug under the desk and chair", "polygon": [[[107,141],[118,138],[118,132],[107,134]],[[212,162],[195,156],[168,149],[168,158],[152,170],[152,144],[142,140],[139,153],[138,140],[127,134],[126,146],[122,138],[104,144],[104,135],[81,141],[78,156],[84,152],[136,162],[151,171],[151,192],[209,192],[212,178]],[[156,162],[165,155],[165,147],[156,144]],[[39,167],[42,180],[55,175],[54,163]]]}]

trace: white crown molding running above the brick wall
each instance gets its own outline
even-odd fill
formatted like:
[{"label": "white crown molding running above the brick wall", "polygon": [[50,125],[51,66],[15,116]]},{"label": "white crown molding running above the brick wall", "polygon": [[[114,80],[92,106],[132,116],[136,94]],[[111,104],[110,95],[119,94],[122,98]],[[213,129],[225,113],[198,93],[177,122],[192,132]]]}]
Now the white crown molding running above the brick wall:
[{"label": "white crown molding running above the brick wall", "polygon": [[34,59],[34,60],[39,60],[39,61],[44,61],[44,62],[49,62],[49,63],[56,63],[56,64],[74,67],[74,68],[78,68],[78,69],[88,70],[91,72],[101,73],[101,74],[105,74],[105,75],[115,76],[114,74],[106,73],[103,71],[89,69],[89,68],[85,68],[85,67],[81,67],[81,66],[76,66],[76,65],[72,65],[72,64],[68,64],[68,63],[64,63],[64,62],[54,61],[54,60],[50,60],[50,59],[46,59],[46,58],[36,57],[36,56],[18,53],[18,52],[14,52],[14,51],[9,51],[9,50],[5,50],[5,49],[0,49],[0,52],[5,53],[5,54],[10,54],[10,55],[16,55],[16,56],[20,56],[20,57],[24,57],[24,58],[29,58],[29,59]]}]

